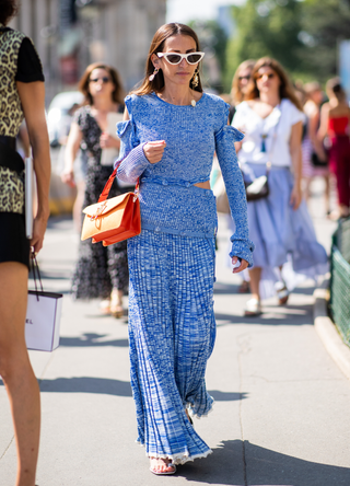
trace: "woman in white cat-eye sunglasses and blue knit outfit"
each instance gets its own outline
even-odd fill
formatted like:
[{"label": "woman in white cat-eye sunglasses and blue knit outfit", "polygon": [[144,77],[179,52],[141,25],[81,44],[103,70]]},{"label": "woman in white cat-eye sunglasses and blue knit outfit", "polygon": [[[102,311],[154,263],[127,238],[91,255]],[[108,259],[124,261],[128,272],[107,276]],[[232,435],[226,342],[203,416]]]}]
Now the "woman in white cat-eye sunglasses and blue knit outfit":
[{"label": "woman in white cat-eye sunglasses and blue knit outfit", "polygon": [[[252,266],[247,208],[229,105],[202,92],[198,38],[183,24],[159,28],[141,88],[125,100],[118,177],[140,178],[141,227],[128,241],[129,342],[138,442],[155,474],[210,453],[189,419],[212,408],[205,371],[215,338],[217,151],[236,224],[234,273]],[[240,259],[240,264],[237,261]]]}]

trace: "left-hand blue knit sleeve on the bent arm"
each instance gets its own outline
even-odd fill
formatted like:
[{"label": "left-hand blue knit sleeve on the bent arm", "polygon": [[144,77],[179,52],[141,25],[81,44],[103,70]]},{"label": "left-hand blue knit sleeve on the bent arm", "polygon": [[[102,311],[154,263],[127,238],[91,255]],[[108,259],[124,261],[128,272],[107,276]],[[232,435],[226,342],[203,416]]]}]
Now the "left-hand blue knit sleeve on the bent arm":
[{"label": "left-hand blue knit sleeve on the bent arm", "polygon": [[120,139],[120,152],[114,166],[116,167],[119,164],[117,177],[120,178],[120,181],[135,184],[142,172],[151,165],[151,163],[144,155],[144,143],[140,143],[136,134],[131,96],[125,99],[125,104],[128,108],[130,119],[117,124],[117,136]]}]

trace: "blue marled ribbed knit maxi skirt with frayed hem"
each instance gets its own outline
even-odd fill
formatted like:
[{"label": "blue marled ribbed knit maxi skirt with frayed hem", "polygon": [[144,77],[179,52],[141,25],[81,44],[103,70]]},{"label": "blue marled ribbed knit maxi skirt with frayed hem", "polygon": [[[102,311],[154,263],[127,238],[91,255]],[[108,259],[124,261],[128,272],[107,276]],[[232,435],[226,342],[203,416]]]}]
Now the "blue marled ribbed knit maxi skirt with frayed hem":
[{"label": "blue marled ribbed knit maxi skirt with frayed hem", "polygon": [[129,342],[138,442],[182,464],[211,450],[185,408],[206,416],[205,382],[215,340],[214,241],[151,230],[128,241]]}]

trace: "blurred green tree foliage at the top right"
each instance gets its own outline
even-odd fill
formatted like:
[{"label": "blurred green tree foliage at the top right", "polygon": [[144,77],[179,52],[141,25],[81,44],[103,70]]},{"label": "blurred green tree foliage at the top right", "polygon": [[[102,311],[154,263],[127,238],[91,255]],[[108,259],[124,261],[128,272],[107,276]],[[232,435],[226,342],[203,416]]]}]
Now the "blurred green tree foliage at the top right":
[{"label": "blurred green tree foliage at the top right", "polygon": [[278,59],[293,78],[324,82],[337,72],[338,42],[350,38],[350,0],[247,0],[232,14],[228,91],[237,66],[262,56]]}]

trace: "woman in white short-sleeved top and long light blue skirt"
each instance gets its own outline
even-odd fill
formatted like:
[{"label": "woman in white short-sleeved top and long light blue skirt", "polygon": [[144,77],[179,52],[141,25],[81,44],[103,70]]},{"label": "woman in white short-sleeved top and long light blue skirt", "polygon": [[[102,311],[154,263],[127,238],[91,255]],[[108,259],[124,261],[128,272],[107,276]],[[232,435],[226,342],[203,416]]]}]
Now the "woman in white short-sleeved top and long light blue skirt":
[{"label": "woman in white short-sleeved top and long light blue skirt", "polygon": [[268,197],[248,202],[249,238],[256,250],[245,315],[258,315],[261,298],[276,291],[280,304],[287,303],[295,274],[315,278],[325,273],[327,255],[302,201],[304,114],[279,62],[267,57],[256,62],[245,100],[232,121],[245,134],[236,143],[245,181],[267,174],[271,164]]}]

